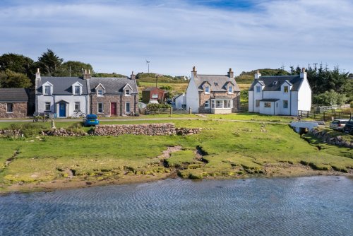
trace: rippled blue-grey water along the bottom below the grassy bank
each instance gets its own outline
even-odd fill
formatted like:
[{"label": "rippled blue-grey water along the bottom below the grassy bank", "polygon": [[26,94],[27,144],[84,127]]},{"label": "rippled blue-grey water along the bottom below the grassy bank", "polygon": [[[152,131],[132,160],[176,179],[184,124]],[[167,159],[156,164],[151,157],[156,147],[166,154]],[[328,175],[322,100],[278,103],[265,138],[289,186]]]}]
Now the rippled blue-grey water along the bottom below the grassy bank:
[{"label": "rippled blue-grey water along the bottom below the grassy bank", "polygon": [[0,196],[0,235],[353,235],[353,179],[92,187]]}]

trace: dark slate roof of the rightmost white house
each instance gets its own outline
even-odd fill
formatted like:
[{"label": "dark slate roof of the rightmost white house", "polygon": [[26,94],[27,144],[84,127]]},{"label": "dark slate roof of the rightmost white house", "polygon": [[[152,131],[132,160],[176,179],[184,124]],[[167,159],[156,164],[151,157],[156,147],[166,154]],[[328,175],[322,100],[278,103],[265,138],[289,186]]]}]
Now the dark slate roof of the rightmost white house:
[{"label": "dark slate roof of the rightmost white house", "polygon": [[[281,85],[286,81],[291,83],[292,89],[291,91],[298,91],[303,81],[303,78],[300,78],[299,75],[297,76],[261,76],[258,80],[254,80],[251,84],[249,91],[253,91],[253,87],[257,82],[261,83],[261,85],[265,86],[263,91],[280,91]],[[275,83],[277,81],[277,83]]]}]

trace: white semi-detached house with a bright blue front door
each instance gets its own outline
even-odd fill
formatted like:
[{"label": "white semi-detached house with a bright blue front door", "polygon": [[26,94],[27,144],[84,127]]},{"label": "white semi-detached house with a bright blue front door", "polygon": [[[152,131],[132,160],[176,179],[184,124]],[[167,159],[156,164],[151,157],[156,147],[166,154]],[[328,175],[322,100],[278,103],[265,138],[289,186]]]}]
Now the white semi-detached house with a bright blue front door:
[{"label": "white semi-detached house with a bright blue front door", "polygon": [[88,114],[88,81],[78,77],[41,77],[35,73],[35,114],[47,112],[71,117],[73,112]]}]

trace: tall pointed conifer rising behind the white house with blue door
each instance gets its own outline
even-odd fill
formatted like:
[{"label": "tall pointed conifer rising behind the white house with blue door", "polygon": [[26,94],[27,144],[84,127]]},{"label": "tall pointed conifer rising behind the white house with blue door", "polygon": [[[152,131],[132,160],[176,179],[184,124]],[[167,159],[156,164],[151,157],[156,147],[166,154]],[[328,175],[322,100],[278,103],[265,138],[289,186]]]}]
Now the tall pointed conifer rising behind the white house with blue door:
[{"label": "tall pointed conifer rising behind the white house with blue door", "polygon": [[58,76],[63,61],[64,59],[56,56],[51,49],[43,52],[42,56],[38,57],[38,64],[45,76]]}]

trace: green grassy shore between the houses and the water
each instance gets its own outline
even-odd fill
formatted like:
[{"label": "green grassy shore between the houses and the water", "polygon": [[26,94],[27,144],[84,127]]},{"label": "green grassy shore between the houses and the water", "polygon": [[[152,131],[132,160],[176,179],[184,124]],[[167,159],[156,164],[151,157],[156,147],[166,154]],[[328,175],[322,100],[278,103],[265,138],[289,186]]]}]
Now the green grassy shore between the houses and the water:
[{"label": "green grassy shore between the houses and the water", "polygon": [[[318,175],[322,174],[319,171],[329,174],[334,170],[340,175],[352,175],[352,149],[324,146],[319,150],[287,124],[187,118],[104,123],[150,122],[173,122],[177,127],[197,127],[202,131],[189,136],[116,137],[52,137],[29,132],[25,138],[0,138],[0,191],[41,189],[48,187],[47,183],[55,188],[57,184],[75,182],[82,186],[119,183],[129,178],[158,179],[170,173],[191,179]],[[73,122],[56,124],[83,129]],[[28,126],[27,131],[40,129],[33,124],[16,125]],[[162,155],[174,146],[180,150]]]}]

